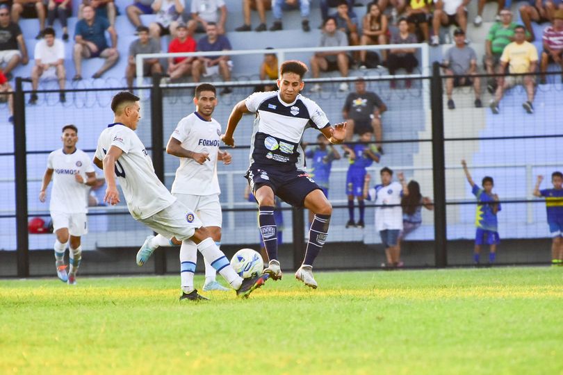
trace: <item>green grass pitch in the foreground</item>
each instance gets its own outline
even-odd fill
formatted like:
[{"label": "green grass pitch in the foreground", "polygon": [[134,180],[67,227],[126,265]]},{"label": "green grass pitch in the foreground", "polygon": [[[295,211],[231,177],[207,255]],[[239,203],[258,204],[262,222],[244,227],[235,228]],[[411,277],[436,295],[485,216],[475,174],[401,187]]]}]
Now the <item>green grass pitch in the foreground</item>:
[{"label": "green grass pitch in the foreground", "polygon": [[563,374],[562,268],[316,278],[202,303],[179,276],[0,281],[0,374]]}]

